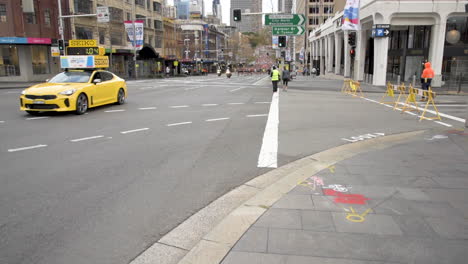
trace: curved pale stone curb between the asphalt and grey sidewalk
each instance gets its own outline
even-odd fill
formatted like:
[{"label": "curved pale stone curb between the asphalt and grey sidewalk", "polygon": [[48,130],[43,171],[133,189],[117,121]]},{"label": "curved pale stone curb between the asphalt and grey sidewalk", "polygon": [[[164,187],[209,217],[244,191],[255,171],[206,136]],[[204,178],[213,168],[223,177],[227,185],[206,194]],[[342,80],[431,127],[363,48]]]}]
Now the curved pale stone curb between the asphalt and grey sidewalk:
[{"label": "curved pale stone curb between the asphalt and grey sidewalk", "polygon": [[219,264],[257,219],[298,182],[342,160],[408,142],[424,132],[344,144],[260,175],[189,217],[130,264]]}]

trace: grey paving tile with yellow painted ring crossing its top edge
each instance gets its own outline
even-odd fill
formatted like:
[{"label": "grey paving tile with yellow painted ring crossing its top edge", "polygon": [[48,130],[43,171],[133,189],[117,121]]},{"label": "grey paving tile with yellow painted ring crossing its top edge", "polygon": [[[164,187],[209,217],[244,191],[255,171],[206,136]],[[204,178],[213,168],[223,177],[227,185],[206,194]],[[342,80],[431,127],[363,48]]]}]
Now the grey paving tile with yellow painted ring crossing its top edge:
[{"label": "grey paving tile with yellow painted ring crossing its top edge", "polygon": [[332,213],[332,215],[337,232],[398,236],[403,234],[398,224],[388,215],[366,215],[364,222],[360,223],[347,220],[346,213]]}]

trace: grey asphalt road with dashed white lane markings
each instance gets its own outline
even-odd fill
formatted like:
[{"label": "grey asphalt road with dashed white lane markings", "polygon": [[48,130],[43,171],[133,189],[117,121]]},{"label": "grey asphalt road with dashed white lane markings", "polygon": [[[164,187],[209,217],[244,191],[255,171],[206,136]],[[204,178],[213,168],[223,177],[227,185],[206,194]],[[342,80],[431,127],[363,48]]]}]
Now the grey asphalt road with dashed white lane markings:
[{"label": "grey asphalt road with dashed white lane markings", "polygon": [[[265,77],[131,81],[126,104],[82,116],[31,117],[18,110],[20,90],[0,90],[0,263],[128,263],[268,171],[257,167],[272,100]],[[299,78],[280,93],[279,166],[368,133],[462,127],[340,88]]]}]

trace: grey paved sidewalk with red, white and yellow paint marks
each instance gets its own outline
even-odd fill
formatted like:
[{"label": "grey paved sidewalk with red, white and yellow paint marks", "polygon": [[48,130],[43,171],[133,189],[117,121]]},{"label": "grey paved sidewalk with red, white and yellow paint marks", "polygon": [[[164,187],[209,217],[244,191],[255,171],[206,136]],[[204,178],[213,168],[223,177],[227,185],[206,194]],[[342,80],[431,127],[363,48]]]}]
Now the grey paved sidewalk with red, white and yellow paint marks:
[{"label": "grey paved sidewalk with red, white and yellow paint marks", "polygon": [[308,175],[222,263],[466,263],[467,153],[468,132],[431,130]]}]

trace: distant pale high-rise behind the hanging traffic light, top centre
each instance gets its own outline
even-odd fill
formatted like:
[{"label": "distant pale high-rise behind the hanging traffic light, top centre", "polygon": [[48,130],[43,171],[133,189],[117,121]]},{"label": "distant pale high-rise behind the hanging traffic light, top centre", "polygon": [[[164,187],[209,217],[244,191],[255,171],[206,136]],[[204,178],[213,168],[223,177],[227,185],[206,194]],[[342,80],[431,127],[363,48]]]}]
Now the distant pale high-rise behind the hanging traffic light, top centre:
[{"label": "distant pale high-rise behind the hanging traffic light, top centre", "polygon": [[231,0],[231,26],[238,27],[240,32],[256,32],[262,28],[262,15],[242,16],[241,22],[235,22],[232,10],[240,9],[244,13],[262,12],[262,0]]}]

